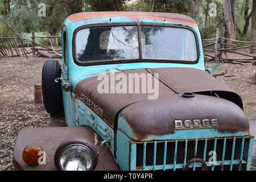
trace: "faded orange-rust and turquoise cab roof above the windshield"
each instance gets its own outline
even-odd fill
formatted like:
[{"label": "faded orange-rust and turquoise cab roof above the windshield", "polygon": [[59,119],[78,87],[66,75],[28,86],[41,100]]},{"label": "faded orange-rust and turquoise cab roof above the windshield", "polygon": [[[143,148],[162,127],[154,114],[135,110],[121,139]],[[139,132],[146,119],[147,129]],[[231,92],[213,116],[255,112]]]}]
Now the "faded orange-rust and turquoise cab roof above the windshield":
[{"label": "faded orange-rust and turquoise cab roof above the windshield", "polygon": [[[147,22],[152,23],[169,22],[197,27],[195,20],[186,15],[140,11],[98,11],[76,13],[68,16],[65,23],[67,26],[78,21],[84,21],[86,24],[112,23],[112,19],[115,19],[116,23],[118,18],[120,18],[119,23],[125,23],[124,19],[129,19],[128,22],[143,22],[143,20],[146,20]],[[92,21],[92,19],[96,21]]]}]

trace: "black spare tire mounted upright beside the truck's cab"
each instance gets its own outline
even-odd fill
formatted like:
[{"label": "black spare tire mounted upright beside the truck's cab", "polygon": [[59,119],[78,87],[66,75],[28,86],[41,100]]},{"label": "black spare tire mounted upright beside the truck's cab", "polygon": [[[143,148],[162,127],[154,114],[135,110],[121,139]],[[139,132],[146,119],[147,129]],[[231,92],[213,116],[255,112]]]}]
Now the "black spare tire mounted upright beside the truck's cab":
[{"label": "black spare tire mounted upright beside the truck's cab", "polygon": [[55,82],[60,78],[60,63],[56,60],[47,60],[43,65],[42,71],[42,93],[44,108],[50,114],[63,112],[63,99],[61,83]]}]

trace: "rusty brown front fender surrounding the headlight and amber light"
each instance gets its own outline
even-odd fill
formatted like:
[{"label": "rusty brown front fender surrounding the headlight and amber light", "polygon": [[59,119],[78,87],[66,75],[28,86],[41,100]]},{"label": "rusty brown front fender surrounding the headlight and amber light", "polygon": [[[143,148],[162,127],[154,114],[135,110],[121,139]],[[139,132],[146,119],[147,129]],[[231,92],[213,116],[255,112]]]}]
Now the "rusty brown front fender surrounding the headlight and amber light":
[{"label": "rusty brown front fender surrounding the headlight and amber light", "polygon": [[[26,128],[19,132],[16,140],[13,164],[16,169],[24,171],[55,171],[54,155],[61,142],[73,137],[84,137],[88,142],[94,143],[94,131],[89,127],[40,127]],[[98,137],[100,140],[100,137]],[[46,164],[28,166],[22,159],[23,149],[26,146],[40,146],[46,152]],[[119,170],[108,148],[97,144],[99,153],[96,171]]]}]

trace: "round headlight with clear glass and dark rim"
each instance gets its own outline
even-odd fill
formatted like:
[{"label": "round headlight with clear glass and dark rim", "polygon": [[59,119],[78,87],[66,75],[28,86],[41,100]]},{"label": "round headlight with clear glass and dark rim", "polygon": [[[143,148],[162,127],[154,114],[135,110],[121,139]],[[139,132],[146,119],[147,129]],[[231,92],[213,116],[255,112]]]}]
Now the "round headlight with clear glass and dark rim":
[{"label": "round headlight with clear glass and dark rim", "polygon": [[92,171],[97,161],[96,149],[84,139],[66,140],[55,152],[55,166],[61,171]]}]

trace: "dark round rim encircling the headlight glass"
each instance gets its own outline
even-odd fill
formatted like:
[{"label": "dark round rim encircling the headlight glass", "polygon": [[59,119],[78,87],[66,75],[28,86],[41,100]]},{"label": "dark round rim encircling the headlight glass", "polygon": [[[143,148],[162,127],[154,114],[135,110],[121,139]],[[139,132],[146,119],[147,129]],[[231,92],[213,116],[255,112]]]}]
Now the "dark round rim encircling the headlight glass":
[{"label": "dark round rim encircling the headlight glass", "polygon": [[96,168],[98,163],[97,151],[96,151],[96,148],[86,140],[86,138],[82,138],[82,137],[67,139],[60,143],[54,155],[55,167],[57,168],[57,170],[63,171],[63,169],[60,167],[60,156],[61,156],[60,154],[65,148],[75,144],[80,144],[81,146],[85,146],[90,150],[93,156],[93,164],[92,164],[92,167],[90,167],[90,170],[88,171],[93,171]]}]

